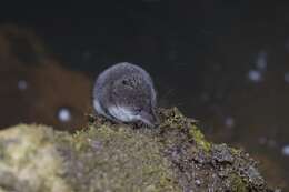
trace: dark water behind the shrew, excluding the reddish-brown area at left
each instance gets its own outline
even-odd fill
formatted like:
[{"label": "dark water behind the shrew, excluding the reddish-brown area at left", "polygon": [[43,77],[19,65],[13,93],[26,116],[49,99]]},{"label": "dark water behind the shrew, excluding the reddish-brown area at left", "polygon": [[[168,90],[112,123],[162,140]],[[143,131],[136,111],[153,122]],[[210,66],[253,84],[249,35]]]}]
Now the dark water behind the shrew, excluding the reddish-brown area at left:
[{"label": "dark water behind the shrew, excluding the reddish-brown area at left", "polygon": [[160,105],[201,120],[209,139],[250,151],[273,183],[289,181],[289,2],[24,8],[2,11],[1,21],[33,29],[66,67],[90,78],[117,62],[143,67]]}]

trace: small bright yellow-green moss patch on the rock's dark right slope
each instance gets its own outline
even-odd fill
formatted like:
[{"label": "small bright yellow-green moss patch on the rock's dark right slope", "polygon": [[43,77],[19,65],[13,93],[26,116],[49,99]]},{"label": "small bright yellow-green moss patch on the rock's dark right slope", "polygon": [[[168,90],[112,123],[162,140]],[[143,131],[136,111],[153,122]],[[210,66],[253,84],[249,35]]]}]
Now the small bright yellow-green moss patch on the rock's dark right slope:
[{"label": "small bright yellow-green moss patch on the rock's dark right slope", "polygon": [[189,129],[189,134],[190,137],[192,137],[197,145],[200,146],[202,150],[205,150],[206,152],[209,152],[211,150],[211,143],[206,141],[203,134],[196,124],[193,124]]}]

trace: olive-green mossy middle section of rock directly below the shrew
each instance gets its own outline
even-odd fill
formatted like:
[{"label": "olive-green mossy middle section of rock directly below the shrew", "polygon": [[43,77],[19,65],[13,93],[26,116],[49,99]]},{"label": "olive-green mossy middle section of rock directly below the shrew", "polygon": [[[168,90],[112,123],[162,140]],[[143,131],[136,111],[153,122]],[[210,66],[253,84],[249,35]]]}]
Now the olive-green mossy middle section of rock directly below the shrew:
[{"label": "olive-green mossy middle section of rock directly below the shrew", "polygon": [[158,143],[130,128],[91,125],[73,134],[70,150],[67,180],[76,191],[180,191]]}]

